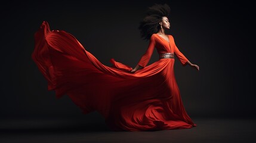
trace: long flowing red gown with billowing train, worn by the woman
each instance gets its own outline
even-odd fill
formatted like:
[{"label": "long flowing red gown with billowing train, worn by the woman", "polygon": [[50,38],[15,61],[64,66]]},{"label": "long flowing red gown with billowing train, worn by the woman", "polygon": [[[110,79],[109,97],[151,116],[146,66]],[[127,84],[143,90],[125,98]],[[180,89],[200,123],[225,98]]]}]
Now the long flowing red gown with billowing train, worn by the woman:
[{"label": "long flowing red gown with billowing train, worn by the woman", "polygon": [[32,59],[48,81],[48,90],[57,98],[68,95],[82,111],[98,111],[113,130],[187,129],[196,126],[186,113],[174,76],[174,58],[163,58],[147,66],[153,49],[159,54],[172,52],[183,65],[187,58],[157,34],[139,65],[131,67],[110,60],[113,67],[101,64],[70,33],[50,30],[47,21],[35,33]]}]

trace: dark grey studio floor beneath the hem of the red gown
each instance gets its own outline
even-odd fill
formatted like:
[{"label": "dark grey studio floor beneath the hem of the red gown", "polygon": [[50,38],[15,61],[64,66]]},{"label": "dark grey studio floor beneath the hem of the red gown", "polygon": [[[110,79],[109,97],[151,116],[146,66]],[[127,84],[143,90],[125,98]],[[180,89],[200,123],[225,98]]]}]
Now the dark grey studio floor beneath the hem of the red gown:
[{"label": "dark grey studio floor beneath the hem of the red gown", "polygon": [[191,129],[113,132],[104,122],[1,120],[0,142],[256,142],[256,120],[194,118]]}]

